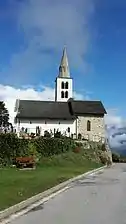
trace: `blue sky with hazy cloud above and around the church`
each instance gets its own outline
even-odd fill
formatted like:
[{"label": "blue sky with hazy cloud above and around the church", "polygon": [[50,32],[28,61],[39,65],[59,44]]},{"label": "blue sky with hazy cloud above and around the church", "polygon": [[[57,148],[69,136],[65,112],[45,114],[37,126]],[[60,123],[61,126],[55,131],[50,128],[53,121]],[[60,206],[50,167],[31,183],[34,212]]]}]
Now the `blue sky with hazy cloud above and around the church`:
[{"label": "blue sky with hazy cloud above and around the church", "polygon": [[0,1],[1,97],[25,86],[46,98],[66,45],[78,98],[100,99],[125,119],[125,12],[124,0]]}]

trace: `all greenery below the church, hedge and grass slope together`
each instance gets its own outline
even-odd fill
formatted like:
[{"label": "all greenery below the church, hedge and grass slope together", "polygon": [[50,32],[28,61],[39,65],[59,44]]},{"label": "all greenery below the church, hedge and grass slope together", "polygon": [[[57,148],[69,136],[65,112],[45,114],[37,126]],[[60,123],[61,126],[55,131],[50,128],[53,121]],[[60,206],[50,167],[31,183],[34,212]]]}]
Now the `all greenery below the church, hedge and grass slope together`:
[{"label": "all greenery below the church, hedge and grass slope together", "polygon": [[[0,210],[69,178],[106,164],[105,146],[70,138],[19,139],[0,134]],[[17,157],[33,155],[35,170],[12,168]]]}]

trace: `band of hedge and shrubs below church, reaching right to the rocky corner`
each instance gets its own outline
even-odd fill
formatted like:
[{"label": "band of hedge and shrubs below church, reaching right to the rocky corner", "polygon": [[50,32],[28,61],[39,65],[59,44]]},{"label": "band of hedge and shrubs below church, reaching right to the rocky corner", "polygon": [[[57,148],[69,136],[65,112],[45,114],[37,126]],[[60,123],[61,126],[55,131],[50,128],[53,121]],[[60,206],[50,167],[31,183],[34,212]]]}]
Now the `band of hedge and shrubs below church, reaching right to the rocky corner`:
[{"label": "band of hedge and shrubs below church, reaching right to the rocky corner", "polygon": [[0,134],[0,166],[14,164],[17,157],[34,156],[35,161],[38,162],[42,157],[50,159],[49,157],[53,155],[66,152],[73,152],[73,154],[80,152],[80,156],[83,154],[86,159],[103,163],[107,160],[103,156],[105,152],[101,150],[101,147],[98,148],[98,144],[82,144],[67,137],[21,139],[14,133]]}]

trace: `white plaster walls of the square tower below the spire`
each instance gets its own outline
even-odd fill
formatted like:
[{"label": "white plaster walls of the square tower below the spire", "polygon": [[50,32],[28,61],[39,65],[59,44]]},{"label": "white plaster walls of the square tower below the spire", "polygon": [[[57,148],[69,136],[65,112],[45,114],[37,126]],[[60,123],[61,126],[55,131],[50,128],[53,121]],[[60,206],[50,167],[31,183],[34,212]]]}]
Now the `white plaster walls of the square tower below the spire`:
[{"label": "white plaster walls of the square tower below the spire", "polygon": [[[61,83],[62,82],[68,82],[68,89],[61,89]],[[56,96],[55,100],[60,102],[66,102],[69,98],[73,97],[73,80],[71,78],[57,78],[56,79]],[[68,98],[61,98],[61,91],[68,91]]]}]

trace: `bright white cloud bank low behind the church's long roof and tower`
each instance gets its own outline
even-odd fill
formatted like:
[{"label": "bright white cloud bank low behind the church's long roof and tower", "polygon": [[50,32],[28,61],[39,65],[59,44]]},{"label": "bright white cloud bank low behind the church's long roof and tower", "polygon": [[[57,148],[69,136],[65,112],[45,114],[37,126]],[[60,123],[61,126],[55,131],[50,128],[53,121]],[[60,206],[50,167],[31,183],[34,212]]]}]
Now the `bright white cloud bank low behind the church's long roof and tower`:
[{"label": "bright white cloud bank low behind the church's long roof and tower", "polygon": [[[54,100],[55,91],[51,87],[37,86],[24,86],[20,89],[13,86],[0,85],[0,100],[3,100],[10,114],[10,121],[14,119],[14,107],[16,99],[27,100]],[[74,92],[75,99],[87,98],[80,93]]]}]

